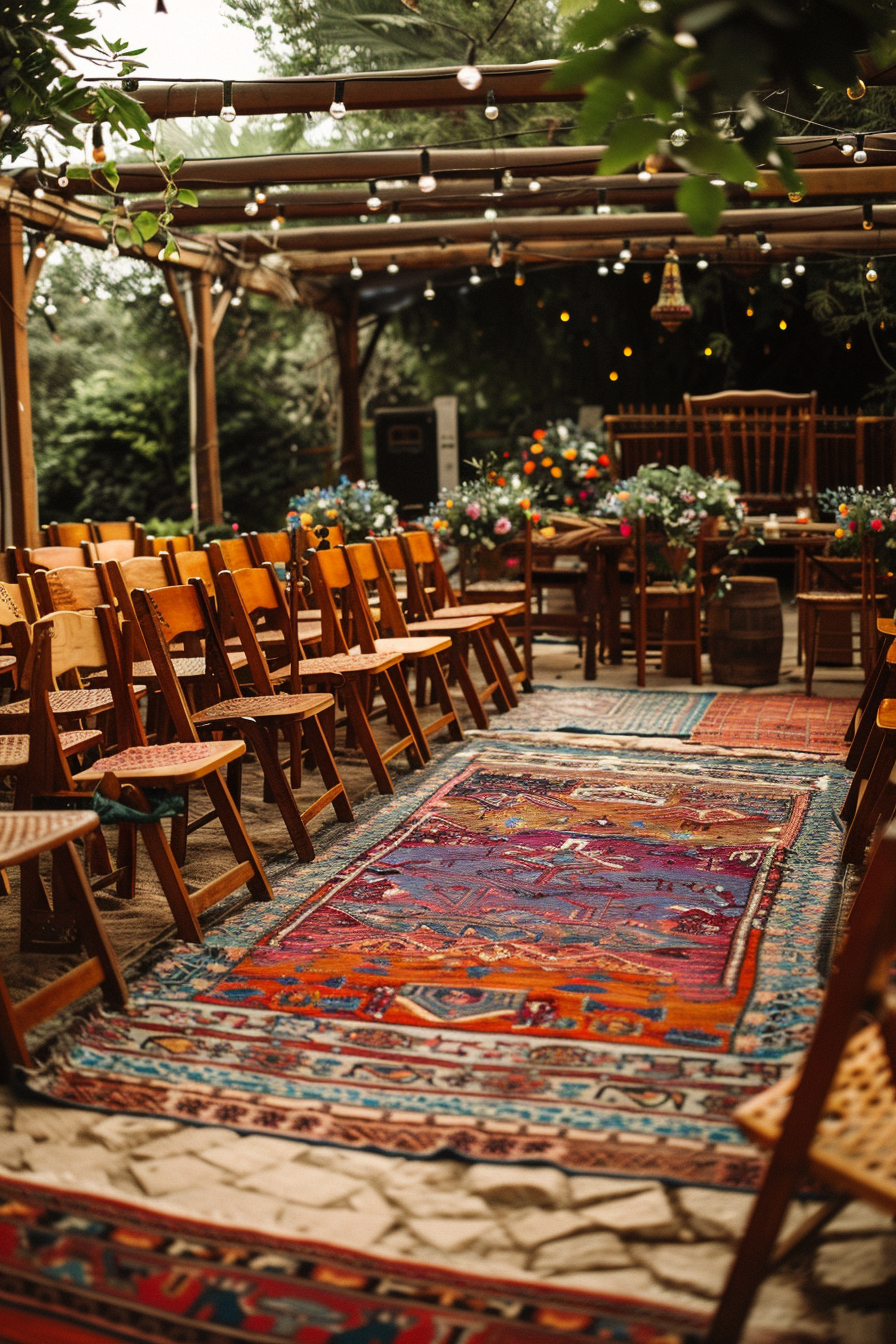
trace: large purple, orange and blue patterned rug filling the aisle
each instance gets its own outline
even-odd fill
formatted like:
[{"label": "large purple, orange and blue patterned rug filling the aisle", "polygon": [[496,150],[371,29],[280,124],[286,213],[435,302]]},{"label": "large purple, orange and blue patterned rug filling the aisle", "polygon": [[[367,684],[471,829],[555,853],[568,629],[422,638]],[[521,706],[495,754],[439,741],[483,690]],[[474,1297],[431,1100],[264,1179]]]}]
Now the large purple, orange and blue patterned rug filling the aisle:
[{"label": "large purple, orange and blue patterned rug filling the aisle", "polygon": [[805,1047],[844,771],[462,746],[31,1086],[304,1140],[750,1188]]}]

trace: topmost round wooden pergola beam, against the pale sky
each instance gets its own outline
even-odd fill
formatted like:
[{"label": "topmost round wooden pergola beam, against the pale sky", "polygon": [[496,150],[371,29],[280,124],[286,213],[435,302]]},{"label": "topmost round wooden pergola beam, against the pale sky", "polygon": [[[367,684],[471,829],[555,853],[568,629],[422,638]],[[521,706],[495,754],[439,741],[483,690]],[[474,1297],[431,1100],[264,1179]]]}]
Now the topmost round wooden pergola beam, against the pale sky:
[{"label": "topmost round wooden pergola beam, against the pale sky", "polygon": [[[235,79],[231,97],[238,117],[326,112],[337,82],[345,85],[343,101],[349,114],[390,108],[484,108],[489,90],[494,91],[498,103],[576,102],[583,97],[580,89],[551,87],[556,65],[556,60],[537,60],[523,66],[480,66],[482,83],[474,90],[463,89],[457,82],[458,66],[445,66],[348,75]],[[140,89],[132,97],[142,103],[153,121],[167,117],[218,117],[223,82],[203,79],[173,83],[140,77]],[[81,120],[89,120],[87,114],[82,114]]]}]

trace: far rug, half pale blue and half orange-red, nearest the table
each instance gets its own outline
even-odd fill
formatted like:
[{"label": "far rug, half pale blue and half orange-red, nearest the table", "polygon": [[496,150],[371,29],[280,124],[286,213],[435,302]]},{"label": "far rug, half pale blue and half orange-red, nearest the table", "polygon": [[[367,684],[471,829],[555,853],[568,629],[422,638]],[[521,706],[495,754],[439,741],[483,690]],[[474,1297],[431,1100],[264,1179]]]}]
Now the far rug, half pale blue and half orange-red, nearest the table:
[{"label": "far rug, half pale blue and half orange-red, nearest the table", "polygon": [[492,719],[489,737],[520,732],[688,738],[725,750],[805,751],[844,759],[844,734],[857,702],[805,695],[715,691],[602,691],[536,687],[520,706]]}]

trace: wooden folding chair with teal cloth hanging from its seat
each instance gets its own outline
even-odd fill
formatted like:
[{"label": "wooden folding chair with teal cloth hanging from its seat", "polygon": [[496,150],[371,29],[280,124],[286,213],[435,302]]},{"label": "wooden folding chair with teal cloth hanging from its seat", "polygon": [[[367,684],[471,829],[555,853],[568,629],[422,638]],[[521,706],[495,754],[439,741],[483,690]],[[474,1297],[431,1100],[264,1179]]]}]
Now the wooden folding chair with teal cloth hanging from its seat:
[{"label": "wooden folding chair with teal cloth hanging from its seat", "polygon": [[[42,661],[35,656],[28,684],[32,706],[30,796],[78,798],[83,797],[79,786],[99,788],[99,792],[113,802],[121,801],[138,813],[152,814],[153,806],[148,802],[144,789],[183,794],[191,785],[201,784],[224,829],[236,864],[196,891],[188,892],[161,821],[154,817],[146,823],[124,821],[120,827],[118,870],[107,876],[106,883],[117,880],[118,895],[133,895],[137,828],[177,930],[188,942],[201,942],[199,915],[239,887],[247,886],[255,899],[270,900],[271,888],[261,859],[246,833],[227,785],[218,773],[242,757],[246,745],[242,741],[146,745],[134,691],[124,668],[130,641],[128,633],[122,638],[110,607],[101,606],[94,614],[58,612],[43,617],[35,626],[35,649],[46,630],[52,634],[48,641],[50,659]],[[74,775],[60,749],[59,731],[51,710],[50,687],[56,663],[105,667],[116,706],[118,749]]]}]

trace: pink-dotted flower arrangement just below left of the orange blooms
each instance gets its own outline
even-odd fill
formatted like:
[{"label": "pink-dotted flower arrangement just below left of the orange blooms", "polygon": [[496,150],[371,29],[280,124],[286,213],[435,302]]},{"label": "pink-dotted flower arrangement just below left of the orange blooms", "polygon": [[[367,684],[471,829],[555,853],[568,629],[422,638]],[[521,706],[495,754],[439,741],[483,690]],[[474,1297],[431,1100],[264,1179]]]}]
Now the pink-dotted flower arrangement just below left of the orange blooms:
[{"label": "pink-dotted flower arrangement just below left of the orange blooms", "polygon": [[480,476],[441,491],[423,524],[454,546],[481,546],[493,551],[512,540],[527,517],[537,523],[540,515],[532,512],[532,500],[520,476],[500,476],[476,465]]}]

